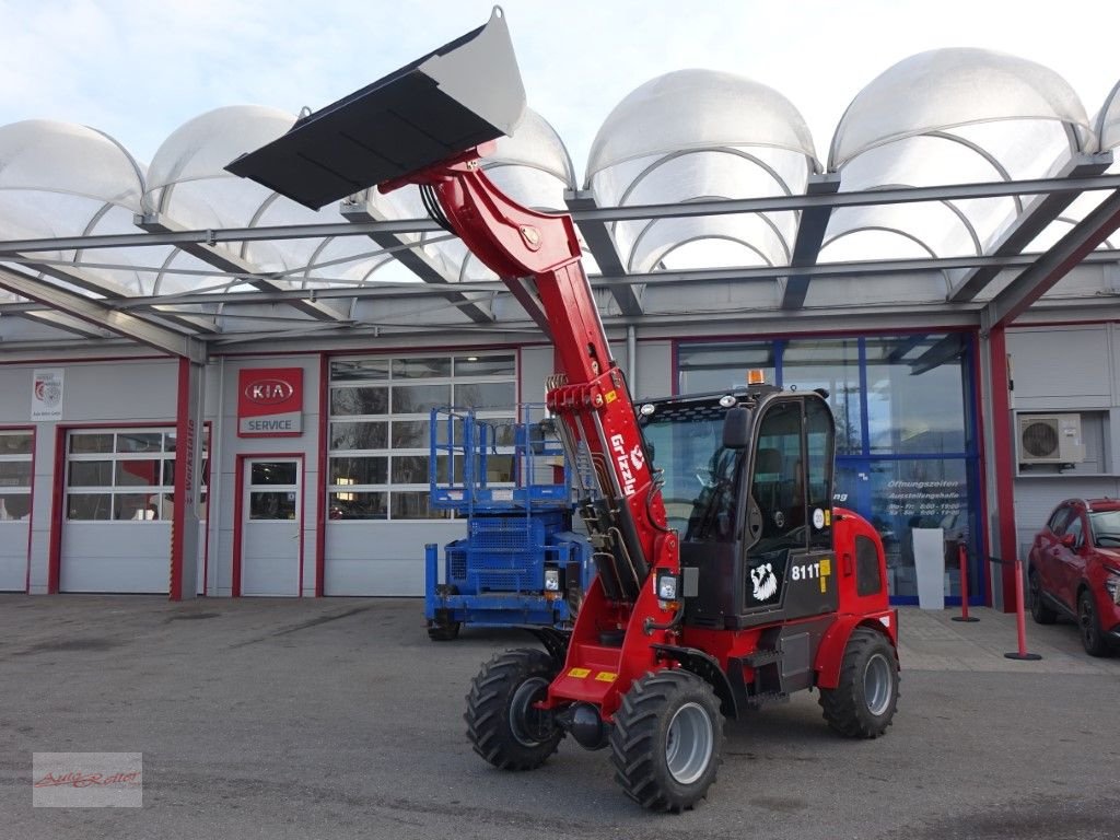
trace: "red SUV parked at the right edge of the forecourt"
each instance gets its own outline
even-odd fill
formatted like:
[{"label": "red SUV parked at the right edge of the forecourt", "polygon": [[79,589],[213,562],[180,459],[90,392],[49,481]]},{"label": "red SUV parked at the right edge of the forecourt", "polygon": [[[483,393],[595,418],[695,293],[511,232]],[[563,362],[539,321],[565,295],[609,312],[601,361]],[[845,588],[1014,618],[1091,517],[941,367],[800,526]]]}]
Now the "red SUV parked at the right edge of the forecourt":
[{"label": "red SUV parked at the right edge of the forecourt", "polygon": [[1092,656],[1120,643],[1120,500],[1070,498],[1054,508],[1030,547],[1030,615],[1060,615],[1081,628]]}]

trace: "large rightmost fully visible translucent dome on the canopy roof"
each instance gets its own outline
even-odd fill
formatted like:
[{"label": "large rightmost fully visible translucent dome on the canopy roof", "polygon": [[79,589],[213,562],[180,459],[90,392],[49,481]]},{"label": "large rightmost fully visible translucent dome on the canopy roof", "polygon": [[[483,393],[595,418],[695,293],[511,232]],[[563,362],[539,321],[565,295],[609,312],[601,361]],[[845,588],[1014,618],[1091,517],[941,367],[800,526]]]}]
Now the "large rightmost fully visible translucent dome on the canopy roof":
[{"label": "large rightmost fully visible translucent dome on the canopy roof", "polygon": [[[1092,141],[1084,106],[1053,71],[990,50],[936,49],[860,91],[829,168],[843,192],[1045,178]],[[821,261],[980,254],[1023,209],[1017,197],[841,208]]]}]

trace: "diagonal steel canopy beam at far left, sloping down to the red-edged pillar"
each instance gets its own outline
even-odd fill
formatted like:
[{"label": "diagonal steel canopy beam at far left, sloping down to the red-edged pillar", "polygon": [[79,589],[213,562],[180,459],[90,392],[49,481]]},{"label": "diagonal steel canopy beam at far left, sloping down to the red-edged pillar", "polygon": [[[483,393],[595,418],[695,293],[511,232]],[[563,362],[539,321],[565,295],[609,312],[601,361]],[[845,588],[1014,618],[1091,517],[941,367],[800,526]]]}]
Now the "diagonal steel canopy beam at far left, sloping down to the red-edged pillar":
[{"label": "diagonal steel canopy beam at far left, sloping down to the red-edged pillar", "polygon": [[157,326],[129,312],[111,309],[102,301],[60,289],[20,271],[0,269],[0,288],[172,356],[198,364],[206,363],[206,345],[197,338]]}]

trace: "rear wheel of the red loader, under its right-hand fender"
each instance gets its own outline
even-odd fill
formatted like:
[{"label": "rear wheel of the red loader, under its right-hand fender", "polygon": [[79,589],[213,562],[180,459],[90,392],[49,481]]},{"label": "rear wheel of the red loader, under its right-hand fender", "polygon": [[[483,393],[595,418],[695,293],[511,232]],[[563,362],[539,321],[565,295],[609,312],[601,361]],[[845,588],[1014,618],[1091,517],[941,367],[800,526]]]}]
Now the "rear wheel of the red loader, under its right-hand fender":
[{"label": "rear wheel of the red loader, under its right-hand fender", "polygon": [[844,648],[840,683],[821,689],[828,725],[846,738],[878,738],[898,706],[898,654],[881,633],[856,627]]}]

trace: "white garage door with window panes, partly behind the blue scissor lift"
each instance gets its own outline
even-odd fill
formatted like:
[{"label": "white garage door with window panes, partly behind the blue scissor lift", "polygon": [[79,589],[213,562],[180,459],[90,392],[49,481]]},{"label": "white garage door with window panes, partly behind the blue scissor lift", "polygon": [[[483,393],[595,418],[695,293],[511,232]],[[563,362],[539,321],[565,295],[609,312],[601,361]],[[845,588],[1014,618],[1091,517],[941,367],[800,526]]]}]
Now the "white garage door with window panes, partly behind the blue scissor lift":
[{"label": "white garage door with window panes, partly behind the blue scissor lift", "polygon": [[[424,543],[465,533],[428,503],[430,412],[472,408],[512,435],[516,401],[512,353],[332,358],[326,595],[423,594]],[[437,475],[448,460],[437,454]]]}]

